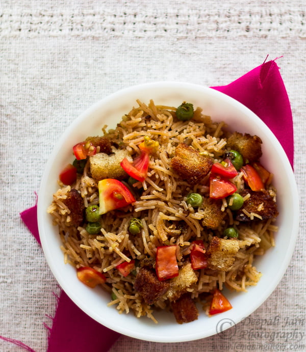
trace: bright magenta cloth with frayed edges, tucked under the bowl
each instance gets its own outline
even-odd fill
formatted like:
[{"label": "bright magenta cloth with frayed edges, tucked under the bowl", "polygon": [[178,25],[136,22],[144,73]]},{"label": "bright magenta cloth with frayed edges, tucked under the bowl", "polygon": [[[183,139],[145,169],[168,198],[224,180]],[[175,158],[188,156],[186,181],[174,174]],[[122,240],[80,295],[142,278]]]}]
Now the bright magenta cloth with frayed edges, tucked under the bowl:
[{"label": "bright magenta cloth with frayed edges, tucked under the bowl", "polygon": [[[233,83],[212,87],[246,105],[274,132],[293,167],[293,126],[287,92],[275,61],[265,62]],[[20,213],[38,242],[36,205]],[[82,312],[62,291],[48,339],[48,352],[106,352],[120,335]],[[22,342],[6,339],[22,346]],[[24,347],[24,345],[23,345]],[[24,347],[28,350],[30,347]]]}]

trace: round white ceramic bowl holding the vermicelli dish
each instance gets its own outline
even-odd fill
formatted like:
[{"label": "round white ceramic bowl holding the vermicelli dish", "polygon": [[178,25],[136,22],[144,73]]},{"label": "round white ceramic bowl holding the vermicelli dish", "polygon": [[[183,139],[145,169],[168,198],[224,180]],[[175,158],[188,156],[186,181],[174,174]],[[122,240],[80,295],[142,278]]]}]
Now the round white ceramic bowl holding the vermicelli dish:
[{"label": "round white ceramic bowl holding the vermicelli dish", "polygon": [[[136,99],[148,103],[154,99],[157,104],[179,106],[188,101],[203,108],[213,121],[224,120],[233,130],[257,134],[263,141],[262,164],[274,174],[277,188],[278,210],[276,247],[256,259],[256,266],[263,273],[257,286],[247,293],[227,292],[233,309],[222,314],[207,317],[201,312],[199,318],[187,324],[177,324],[169,313],[155,313],[159,323],[149,318],[136,318],[133,313],[118,314],[115,307],[107,307],[108,293],[101,288],[90,289],[82,284],[75,269],[64,264],[60,250],[57,227],[46,209],[57,191],[57,179],[63,167],[73,160],[71,147],[91,135],[101,132],[107,124],[113,128],[121,117],[137,106]],[[85,313],[104,326],[119,333],[138,339],[157,342],[180,342],[208,337],[216,333],[219,322],[222,329],[238,323],[256,310],[272,293],[289,265],[298,232],[299,202],[297,187],[287,156],[267,126],[245,106],[214,89],[174,82],[160,82],[135,86],[112,94],[90,107],[75,119],[60,138],[46,164],[38,197],[38,225],[46,260],[63,290]],[[273,265],[271,265],[271,263]],[[231,320],[226,320],[231,319]],[[219,327],[220,328],[220,327]]]}]

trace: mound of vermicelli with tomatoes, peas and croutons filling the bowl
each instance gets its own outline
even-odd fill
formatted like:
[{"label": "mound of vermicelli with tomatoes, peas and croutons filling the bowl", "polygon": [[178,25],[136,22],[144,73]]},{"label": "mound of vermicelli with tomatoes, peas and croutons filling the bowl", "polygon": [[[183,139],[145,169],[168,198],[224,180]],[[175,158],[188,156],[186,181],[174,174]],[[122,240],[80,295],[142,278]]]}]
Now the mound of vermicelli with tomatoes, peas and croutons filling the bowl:
[{"label": "mound of vermicelli with tomatoes, peas and croutons filling the bowl", "polygon": [[[137,103],[115,129],[73,147],[75,167],[60,174],[48,212],[65,262],[90,287],[101,283],[109,305],[155,322],[154,309],[171,310],[190,322],[195,302],[210,305],[216,288],[259,281],[253,259],[274,247],[276,189],[257,136],[226,137],[224,122],[188,103]],[[184,107],[190,119],[180,120]]]}]

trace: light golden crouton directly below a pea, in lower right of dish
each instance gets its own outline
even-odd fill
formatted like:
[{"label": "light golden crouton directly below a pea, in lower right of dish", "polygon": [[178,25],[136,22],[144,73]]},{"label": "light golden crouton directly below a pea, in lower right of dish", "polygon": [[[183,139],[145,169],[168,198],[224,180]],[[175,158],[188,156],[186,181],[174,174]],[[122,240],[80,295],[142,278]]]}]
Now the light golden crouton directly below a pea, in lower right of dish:
[{"label": "light golden crouton directly below a pea, in lower right of dish", "polygon": [[226,272],[230,270],[239,251],[239,242],[236,238],[224,239],[214,236],[207,248],[208,267]]}]

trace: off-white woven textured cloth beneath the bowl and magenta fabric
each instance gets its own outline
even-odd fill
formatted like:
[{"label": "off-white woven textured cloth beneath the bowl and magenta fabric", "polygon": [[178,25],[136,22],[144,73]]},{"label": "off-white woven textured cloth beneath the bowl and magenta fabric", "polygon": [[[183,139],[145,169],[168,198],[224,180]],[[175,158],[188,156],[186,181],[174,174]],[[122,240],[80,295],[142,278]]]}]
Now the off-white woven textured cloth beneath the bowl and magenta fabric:
[{"label": "off-white woven textured cloth beneath the bowl and magenta fabric", "polygon": [[[52,324],[49,317],[55,314],[60,290],[19,212],[35,203],[58,136],[88,106],[118,89],[155,80],[226,85],[260,65],[266,55],[283,55],[277,65],[291,102],[303,214],[305,37],[302,0],[243,5],[236,0],[205,5],[199,0],[0,0],[0,335],[36,352],[47,348],[44,323]],[[237,324],[231,339],[216,335],[161,344],[121,336],[110,351],[260,351],[265,344],[271,351],[306,350],[305,242],[301,218],[283,280],[258,310]],[[0,351],[20,350],[0,340]]]}]

